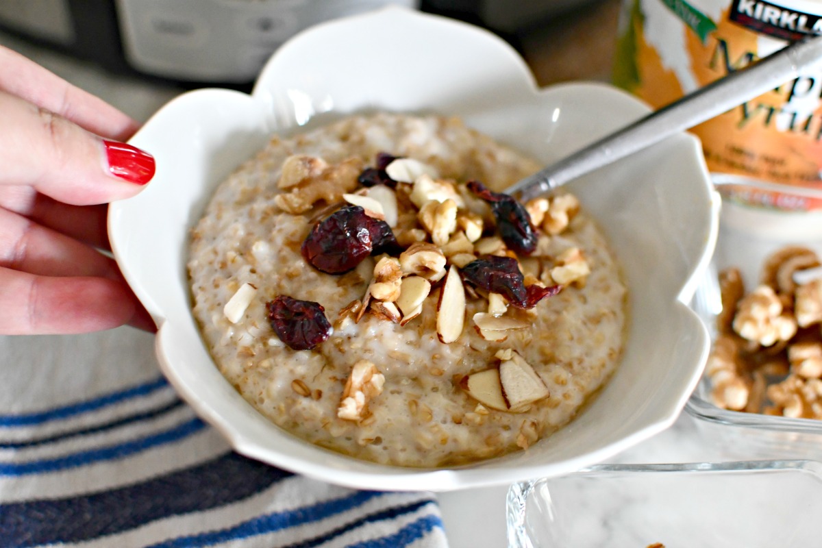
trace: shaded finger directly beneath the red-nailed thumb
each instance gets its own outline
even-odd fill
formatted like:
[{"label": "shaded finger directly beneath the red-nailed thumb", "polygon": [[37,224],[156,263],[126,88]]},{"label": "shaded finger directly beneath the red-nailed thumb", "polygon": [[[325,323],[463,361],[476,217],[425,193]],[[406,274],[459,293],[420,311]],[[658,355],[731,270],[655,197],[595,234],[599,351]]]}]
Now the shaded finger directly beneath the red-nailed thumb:
[{"label": "shaded finger directly beneath the red-nailed thumb", "polygon": [[110,250],[106,228],[109,206],[67,205],[39,194],[31,187],[0,187],[0,208],[28,217],[98,249]]}]

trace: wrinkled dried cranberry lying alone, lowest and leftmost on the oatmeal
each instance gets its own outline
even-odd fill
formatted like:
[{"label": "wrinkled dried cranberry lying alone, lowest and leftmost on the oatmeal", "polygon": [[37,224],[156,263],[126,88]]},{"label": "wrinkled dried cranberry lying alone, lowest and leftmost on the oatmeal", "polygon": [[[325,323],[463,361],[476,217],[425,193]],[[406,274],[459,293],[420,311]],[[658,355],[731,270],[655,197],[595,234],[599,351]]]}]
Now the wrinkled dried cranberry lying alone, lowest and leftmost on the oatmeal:
[{"label": "wrinkled dried cranberry lying alone, lowest and leftmost on the oatmeal", "polygon": [[294,350],[311,350],[334,331],[326,318],[326,309],[313,301],[279,295],[266,302],[266,310],[271,328]]}]

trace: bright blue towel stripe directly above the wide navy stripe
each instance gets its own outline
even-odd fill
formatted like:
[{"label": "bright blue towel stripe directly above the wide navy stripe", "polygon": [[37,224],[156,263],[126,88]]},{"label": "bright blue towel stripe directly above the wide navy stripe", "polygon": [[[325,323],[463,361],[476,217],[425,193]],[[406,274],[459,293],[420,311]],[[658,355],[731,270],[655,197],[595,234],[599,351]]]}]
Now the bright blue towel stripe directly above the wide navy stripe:
[{"label": "bright blue towel stripe directly above the wide navy stripe", "polygon": [[122,444],[109,445],[108,447],[90,449],[62,457],[47,458],[25,463],[0,463],[0,476],[26,476],[44,472],[57,472],[59,470],[99,461],[125,458],[132,454],[145,451],[146,449],[182,440],[197,431],[201,431],[203,428],[205,428],[205,423],[199,418],[193,418],[178,426],[173,426],[173,428],[169,430],[161,431],[158,434],[146,435]]}]

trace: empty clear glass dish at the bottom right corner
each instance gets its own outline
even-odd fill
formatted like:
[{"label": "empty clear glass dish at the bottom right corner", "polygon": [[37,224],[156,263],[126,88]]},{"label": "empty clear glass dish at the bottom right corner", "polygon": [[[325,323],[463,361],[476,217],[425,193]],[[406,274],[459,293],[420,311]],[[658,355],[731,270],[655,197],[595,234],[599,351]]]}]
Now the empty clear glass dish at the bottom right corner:
[{"label": "empty clear glass dish at the bottom right corner", "polygon": [[597,465],[508,490],[510,548],[816,546],[822,464]]}]

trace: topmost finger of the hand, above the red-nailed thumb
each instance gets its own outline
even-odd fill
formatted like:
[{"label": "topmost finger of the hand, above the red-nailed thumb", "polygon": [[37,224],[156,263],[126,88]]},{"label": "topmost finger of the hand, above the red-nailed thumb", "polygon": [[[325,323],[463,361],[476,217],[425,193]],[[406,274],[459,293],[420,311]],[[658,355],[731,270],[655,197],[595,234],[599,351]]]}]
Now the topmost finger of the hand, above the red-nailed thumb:
[{"label": "topmost finger of the hand, above the red-nailed thumb", "polygon": [[131,117],[59,76],[0,46],[0,90],[56,113],[99,136],[127,140],[139,125]]}]

